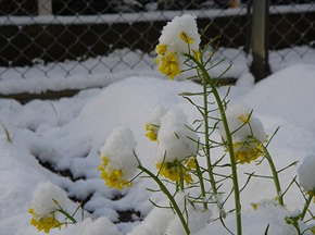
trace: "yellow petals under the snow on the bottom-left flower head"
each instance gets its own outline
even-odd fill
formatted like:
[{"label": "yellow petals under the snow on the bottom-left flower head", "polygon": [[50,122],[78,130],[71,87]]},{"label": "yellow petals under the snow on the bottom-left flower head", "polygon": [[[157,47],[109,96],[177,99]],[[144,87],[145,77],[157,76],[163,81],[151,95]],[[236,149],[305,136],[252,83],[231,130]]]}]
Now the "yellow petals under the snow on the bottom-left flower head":
[{"label": "yellow petals under the snow on the bottom-left flower head", "polygon": [[35,226],[38,231],[43,230],[45,233],[49,233],[51,228],[61,228],[61,223],[54,219],[53,213],[38,219],[38,215],[34,212],[33,208],[30,208],[28,212],[33,214],[30,225]]}]

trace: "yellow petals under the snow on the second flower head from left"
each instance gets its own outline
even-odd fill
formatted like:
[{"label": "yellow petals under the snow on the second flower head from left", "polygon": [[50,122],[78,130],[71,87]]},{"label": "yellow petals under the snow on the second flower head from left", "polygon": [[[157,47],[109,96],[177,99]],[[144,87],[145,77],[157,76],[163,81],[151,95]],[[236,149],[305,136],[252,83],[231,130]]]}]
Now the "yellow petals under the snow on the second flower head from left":
[{"label": "yellow petals under the snow on the second flower head from left", "polygon": [[117,188],[122,190],[124,186],[130,187],[133,186],[133,182],[127,182],[123,180],[123,171],[121,169],[112,169],[108,168],[109,159],[106,157],[102,157],[102,164],[98,168],[98,171],[101,171],[101,178],[105,181],[105,185],[110,188]]}]

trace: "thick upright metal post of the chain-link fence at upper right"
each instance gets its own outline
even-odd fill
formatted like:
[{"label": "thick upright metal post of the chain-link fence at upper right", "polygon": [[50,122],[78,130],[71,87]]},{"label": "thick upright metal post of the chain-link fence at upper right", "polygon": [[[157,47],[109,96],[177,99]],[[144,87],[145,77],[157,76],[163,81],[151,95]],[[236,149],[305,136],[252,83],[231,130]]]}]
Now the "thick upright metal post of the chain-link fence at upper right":
[{"label": "thick upright metal post of the chain-link fence at upper right", "polygon": [[269,0],[253,0],[251,72],[259,82],[269,74],[268,64]]}]

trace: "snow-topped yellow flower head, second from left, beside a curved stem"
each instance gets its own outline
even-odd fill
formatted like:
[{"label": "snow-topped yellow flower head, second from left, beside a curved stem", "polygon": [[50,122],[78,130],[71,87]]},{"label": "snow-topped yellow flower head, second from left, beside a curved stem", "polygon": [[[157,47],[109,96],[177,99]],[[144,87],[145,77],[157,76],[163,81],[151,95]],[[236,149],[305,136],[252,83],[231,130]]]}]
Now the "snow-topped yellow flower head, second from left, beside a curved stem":
[{"label": "snow-topped yellow flower head, second from left, beside a curved stem", "polygon": [[131,186],[129,182],[138,168],[138,161],[134,156],[137,141],[134,139],[131,129],[119,126],[113,129],[104,146],[100,149],[102,163],[99,166],[101,177],[112,188],[123,189]]}]

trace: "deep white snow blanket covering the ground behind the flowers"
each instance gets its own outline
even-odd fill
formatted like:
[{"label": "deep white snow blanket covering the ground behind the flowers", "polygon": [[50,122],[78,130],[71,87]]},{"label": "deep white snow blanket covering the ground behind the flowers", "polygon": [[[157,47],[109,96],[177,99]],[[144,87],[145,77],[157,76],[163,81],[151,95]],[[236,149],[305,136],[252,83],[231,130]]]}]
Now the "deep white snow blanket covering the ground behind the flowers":
[{"label": "deep white snow blanket covering the ground behind the flowers", "polygon": [[[312,92],[315,87],[314,74],[314,65],[297,64],[270,75],[253,87],[231,88],[230,99],[252,107],[255,115],[264,124],[266,133],[272,134],[278,125],[281,126],[269,146],[275,164],[279,169],[314,154],[315,107],[314,92]],[[133,230],[135,232],[130,234],[146,234],[143,231],[151,231],[155,225],[156,230],[161,228],[159,224],[171,221],[167,218],[173,215],[172,213],[166,215],[169,212],[165,212],[165,209],[153,209],[152,214],[150,213],[152,206],[148,201],[149,196],[155,201],[163,199],[161,195],[151,195],[146,190],[147,187],[154,188],[154,185],[146,178],[137,178],[133,187],[122,193],[106,188],[97,171],[100,164],[99,149],[113,128],[125,125],[134,132],[135,139],[138,141],[137,154],[141,158],[142,164],[152,164],[156,154],[156,143],[146,137],[146,123],[150,120],[151,113],[156,106],[165,109],[176,108],[182,110],[188,116],[188,122],[191,123],[198,114],[177,94],[200,89],[200,85],[191,82],[139,75],[118,81],[104,88],[84,90],[75,97],[60,100],[34,100],[22,106],[14,100],[1,99],[1,121],[13,139],[11,144],[8,143],[4,131],[1,129],[0,228],[2,234],[36,233],[36,228],[29,224],[32,215],[27,211],[32,207],[30,200],[37,185],[48,181],[66,190],[71,197],[84,199],[90,196],[85,209],[93,211],[92,217],[96,219],[103,215],[115,222],[118,218],[117,210],[130,209],[141,211],[144,217],[149,214],[140,224],[137,221],[117,224],[123,234]],[[222,87],[219,91],[225,94],[226,87]],[[42,168],[35,157],[42,162],[50,162],[56,171],[68,169],[74,180],[56,175]],[[154,170],[154,166],[151,170]],[[245,181],[243,172],[252,171],[269,172],[269,169],[266,164],[241,165],[239,171],[241,181]],[[295,175],[297,166],[281,172],[282,187],[286,188]],[[252,211],[250,203],[276,195],[270,182],[259,178],[252,181],[254,183],[250,183],[242,193],[244,227],[250,225],[254,227],[259,224],[255,230],[263,231],[270,221],[274,222],[273,224],[280,224],[276,222],[280,220],[279,218],[276,220],[267,217],[268,210],[257,213]],[[121,199],[112,200],[121,194]],[[294,188],[289,190],[285,199],[290,210],[301,209],[303,205],[301,194]],[[289,213],[274,210],[273,217]],[[234,220],[229,219],[227,224],[232,227]],[[207,226],[214,231],[222,230],[215,223]],[[272,230],[276,228],[270,226]],[[248,234],[252,233],[250,227],[245,231],[249,231]],[[68,225],[67,228],[51,231],[51,233],[75,234],[75,230]],[[160,231],[156,232],[159,233]],[[275,234],[280,233],[275,232]]]}]

